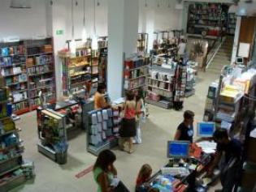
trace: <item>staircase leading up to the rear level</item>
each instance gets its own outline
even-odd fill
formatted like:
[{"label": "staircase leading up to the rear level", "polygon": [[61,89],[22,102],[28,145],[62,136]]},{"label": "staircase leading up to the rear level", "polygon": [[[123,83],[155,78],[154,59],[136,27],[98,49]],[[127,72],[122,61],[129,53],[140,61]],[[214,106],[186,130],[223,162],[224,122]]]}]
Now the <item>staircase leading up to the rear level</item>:
[{"label": "staircase leading up to the rear level", "polygon": [[232,56],[233,41],[232,36],[226,37],[218,53],[215,54],[215,57],[210,62],[208,68],[206,68],[207,72],[219,74],[223,66],[231,64],[230,61]]}]

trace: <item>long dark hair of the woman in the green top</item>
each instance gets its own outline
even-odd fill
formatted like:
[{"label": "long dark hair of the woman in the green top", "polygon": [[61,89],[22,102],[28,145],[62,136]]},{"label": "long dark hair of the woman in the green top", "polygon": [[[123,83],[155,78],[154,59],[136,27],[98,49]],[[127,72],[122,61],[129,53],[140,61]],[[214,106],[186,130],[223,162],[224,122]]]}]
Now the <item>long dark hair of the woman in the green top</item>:
[{"label": "long dark hair of the woman in the green top", "polygon": [[100,168],[103,171],[107,172],[108,165],[113,164],[115,160],[116,160],[115,153],[112,152],[111,150],[101,151],[93,166],[93,169]]}]

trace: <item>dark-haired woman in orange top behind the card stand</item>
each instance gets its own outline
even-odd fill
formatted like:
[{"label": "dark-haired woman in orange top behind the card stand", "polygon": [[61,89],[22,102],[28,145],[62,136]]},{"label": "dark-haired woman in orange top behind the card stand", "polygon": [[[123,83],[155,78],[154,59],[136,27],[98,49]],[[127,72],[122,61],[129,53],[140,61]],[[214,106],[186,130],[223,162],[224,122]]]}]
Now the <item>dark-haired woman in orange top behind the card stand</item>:
[{"label": "dark-haired woman in orange top behind the card stand", "polygon": [[94,109],[106,109],[110,106],[104,97],[105,91],[106,86],[103,83],[99,84],[94,94]]}]

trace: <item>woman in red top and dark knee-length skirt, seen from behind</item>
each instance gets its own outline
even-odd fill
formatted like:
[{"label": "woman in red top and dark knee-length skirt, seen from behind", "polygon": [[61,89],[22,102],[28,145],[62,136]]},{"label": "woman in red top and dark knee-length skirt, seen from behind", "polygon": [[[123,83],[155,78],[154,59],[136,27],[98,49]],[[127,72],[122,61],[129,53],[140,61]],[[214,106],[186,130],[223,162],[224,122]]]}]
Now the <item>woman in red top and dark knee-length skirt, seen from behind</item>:
[{"label": "woman in red top and dark knee-length skirt, seen from behind", "polygon": [[124,102],[124,117],[122,125],[119,130],[121,137],[120,147],[128,153],[134,151],[132,140],[136,136],[136,101],[134,100],[134,93],[132,91],[126,92],[126,100]]}]

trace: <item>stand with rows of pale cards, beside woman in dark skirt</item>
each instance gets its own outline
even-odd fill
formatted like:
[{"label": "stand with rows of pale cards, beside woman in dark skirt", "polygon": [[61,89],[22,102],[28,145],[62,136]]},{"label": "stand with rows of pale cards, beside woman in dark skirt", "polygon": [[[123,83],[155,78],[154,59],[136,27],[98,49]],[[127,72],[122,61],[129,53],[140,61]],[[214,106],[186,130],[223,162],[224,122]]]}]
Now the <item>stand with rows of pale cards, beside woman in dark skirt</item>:
[{"label": "stand with rows of pale cards, beside woman in dark skirt", "polygon": [[87,151],[95,156],[118,144],[121,118],[118,109],[99,109],[88,113]]}]

